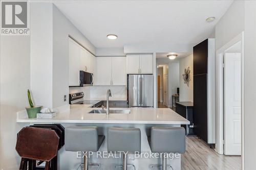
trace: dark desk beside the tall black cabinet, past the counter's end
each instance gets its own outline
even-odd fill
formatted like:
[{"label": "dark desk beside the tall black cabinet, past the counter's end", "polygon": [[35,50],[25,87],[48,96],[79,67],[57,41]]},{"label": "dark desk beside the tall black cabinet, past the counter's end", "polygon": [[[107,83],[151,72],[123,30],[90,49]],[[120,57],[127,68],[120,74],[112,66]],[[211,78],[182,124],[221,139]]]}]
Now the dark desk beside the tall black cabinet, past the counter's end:
[{"label": "dark desk beside the tall black cabinet, past the counter's end", "polygon": [[193,131],[193,102],[176,102],[176,112],[190,122],[190,125],[181,125],[185,128],[186,135],[195,135]]}]

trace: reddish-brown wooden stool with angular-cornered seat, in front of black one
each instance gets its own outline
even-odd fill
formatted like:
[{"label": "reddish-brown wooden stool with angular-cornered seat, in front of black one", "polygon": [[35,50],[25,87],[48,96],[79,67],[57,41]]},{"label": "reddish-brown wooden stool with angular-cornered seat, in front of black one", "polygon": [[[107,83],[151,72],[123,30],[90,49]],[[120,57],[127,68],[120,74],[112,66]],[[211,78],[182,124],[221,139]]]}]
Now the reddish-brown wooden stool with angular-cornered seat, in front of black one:
[{"label": "reddish-brown wooden stool with angular-cornered seat, in front of black one", "polygon": [[[46,162],[45,170],[50,169],[50,162],[58,152],[59,136],[54,130],[25,127],[17,134],[16,151],[22,157],[19,169],[36,169],[33,162]],[[54,167],[51,167],[54,169]]]}]

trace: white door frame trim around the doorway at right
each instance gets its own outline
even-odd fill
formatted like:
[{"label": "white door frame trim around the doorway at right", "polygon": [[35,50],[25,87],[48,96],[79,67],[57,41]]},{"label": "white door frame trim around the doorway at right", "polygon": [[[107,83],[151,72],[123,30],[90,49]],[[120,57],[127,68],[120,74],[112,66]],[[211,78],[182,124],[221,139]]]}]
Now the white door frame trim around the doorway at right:
[{"label": "white door frame trim around the doorway at right", "polygon": [[216,152],[223,154],[224,146],[224,87],[223,87],[223,54],[224,52],[241,41],[241,156],[242,156],[242,169],[244,169],[244,32],[240,33],[224,46],[216,51]]}]

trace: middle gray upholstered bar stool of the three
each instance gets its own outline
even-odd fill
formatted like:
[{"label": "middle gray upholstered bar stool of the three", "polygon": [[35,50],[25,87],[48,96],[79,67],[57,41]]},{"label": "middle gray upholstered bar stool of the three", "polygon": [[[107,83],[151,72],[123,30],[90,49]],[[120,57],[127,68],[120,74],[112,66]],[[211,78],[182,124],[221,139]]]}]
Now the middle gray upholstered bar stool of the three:
[{"label": "middle gray upholstered bar stool of the three", "polygon": [[[108,152],[140,152],[140,129],[138,128],[109,128],[108,131]],[[127,169],[127,155],[123,154],[123,164],[115,165]]]}]

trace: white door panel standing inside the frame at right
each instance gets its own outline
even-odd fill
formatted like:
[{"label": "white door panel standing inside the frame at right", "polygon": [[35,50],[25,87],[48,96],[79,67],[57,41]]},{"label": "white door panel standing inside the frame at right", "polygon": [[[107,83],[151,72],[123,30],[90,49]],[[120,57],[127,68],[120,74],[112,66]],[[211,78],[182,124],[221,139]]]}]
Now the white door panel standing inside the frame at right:
[{"label": "white door panel standing inside the frame at right", "polygon": [[241,155],[241,54],[224,55],[224,154]]}]

